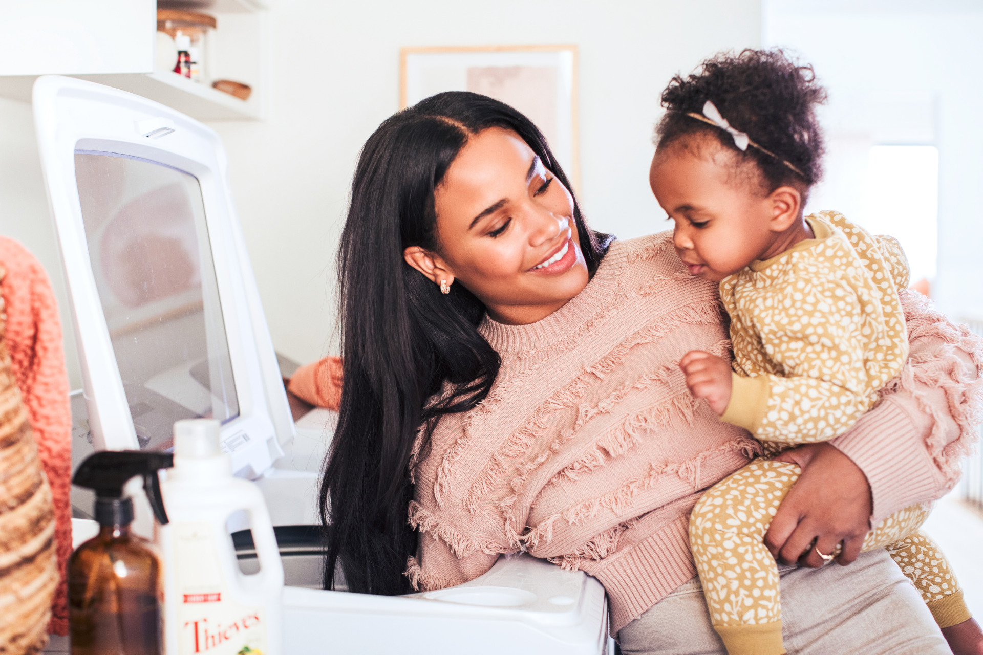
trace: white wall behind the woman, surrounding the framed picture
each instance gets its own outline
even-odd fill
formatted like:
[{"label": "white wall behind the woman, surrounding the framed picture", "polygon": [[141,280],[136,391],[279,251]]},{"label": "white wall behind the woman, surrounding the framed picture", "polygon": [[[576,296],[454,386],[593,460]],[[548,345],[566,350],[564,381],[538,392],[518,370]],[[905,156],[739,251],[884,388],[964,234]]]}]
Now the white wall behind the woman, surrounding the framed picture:
[{"label": "white wall behind the woman, surrounding the framed picture", "polygon": [[[759,0],[269,4],[267,119],[212,127],[229,152],[274,344],[302,361],[330,349],[348,186],[362,143],[398,109],[401,46],[576,43],[580,197],[595,228],[624,239],[667,228],[648,187],[665,83],[718,50],[757,46],[761,27]],[[29,110],[16,104],[0,103],[0,234],[54,270]]]}]

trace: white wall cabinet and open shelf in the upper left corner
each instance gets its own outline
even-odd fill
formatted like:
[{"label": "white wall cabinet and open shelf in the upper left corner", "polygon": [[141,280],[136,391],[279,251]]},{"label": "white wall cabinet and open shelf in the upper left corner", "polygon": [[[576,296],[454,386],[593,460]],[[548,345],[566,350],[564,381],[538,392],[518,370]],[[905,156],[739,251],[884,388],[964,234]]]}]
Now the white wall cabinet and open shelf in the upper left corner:
[{"label": "white wall cabinet and open shelf in the upper left corner", "polygon": [[[80,8],[78,0],[45,0],[18,5],[0,22],[0,97],[30,102],[39,75],[69,75],[142,95],[200,121],[262,118],[265,0],[195,3],[196,11],[218,19],[218,28],[209,32],[210,79],[250,84],[249,100],[208,82],[152,71],[158,6],[188,8],[189,3],[91,0]],[[52,21],[51,16],[62,18]]]}]

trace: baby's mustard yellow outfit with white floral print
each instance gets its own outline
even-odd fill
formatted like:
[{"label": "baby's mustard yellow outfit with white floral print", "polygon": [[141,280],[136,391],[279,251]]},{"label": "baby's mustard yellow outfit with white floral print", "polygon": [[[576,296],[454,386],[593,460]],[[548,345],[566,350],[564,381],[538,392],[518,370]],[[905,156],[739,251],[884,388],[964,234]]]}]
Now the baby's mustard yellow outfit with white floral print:
[{"label": "baby's mustard yellow outfit with white floral print", "polygon": [[[746,428],[773,456],[845,432],[907,358],[897,291],[904,252],[836,212],[806,217],[814,239],[721,282],[734,358],[722,420]],[[778,567],[764,535],[798,479],[795,464],[756,460],[711,488],[693,510],[690,543],[714,628],[730,655],[779,655]],[[915,505],[879,523],[864,550],[889,549],[943,628],[969,618]]]}]

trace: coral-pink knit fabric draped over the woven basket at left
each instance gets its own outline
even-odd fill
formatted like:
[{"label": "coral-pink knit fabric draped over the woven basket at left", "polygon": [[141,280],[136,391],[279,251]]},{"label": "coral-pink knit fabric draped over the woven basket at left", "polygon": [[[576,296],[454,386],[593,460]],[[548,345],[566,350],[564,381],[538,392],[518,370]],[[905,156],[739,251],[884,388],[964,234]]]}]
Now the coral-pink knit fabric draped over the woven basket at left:
[{"label": "coral-pink knit fabric draped over the woven basket at left", "polygon": [[61,583],[55,592],[48,631],[68,634],[66,566],[72,555],[72,410],[58,305],[47,274],[27,248],[0,237],[0,261],[7,268],[0,293],[7,306],[11,361],[54,496]]}]

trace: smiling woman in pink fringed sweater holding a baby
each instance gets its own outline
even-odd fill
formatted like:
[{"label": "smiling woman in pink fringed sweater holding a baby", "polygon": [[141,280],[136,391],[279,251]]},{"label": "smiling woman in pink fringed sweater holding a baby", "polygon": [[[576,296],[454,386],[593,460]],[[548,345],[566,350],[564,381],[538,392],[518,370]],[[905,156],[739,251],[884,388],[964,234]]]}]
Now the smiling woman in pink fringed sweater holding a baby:
[{"label": "smiling woman in pink fringed sweater holding a baby", "polygon": [[[692,400],[677,366],[694,348],[726,354],[716,288],[683,271],[668,234],[591,232],[569,189],[528,119],[472,93],[429,98],[366,143],[338,260],[325,585],[340,564],[352,591],[437,588],[527,550],[605,584],[626,652],[723,652],[685,525],[756,446]],[[905,300],[905,384],[832,445],[783,456],[803,468],[769,536],[786,563],[954,482],[978,344]],[[861,562],[786,572],[787,642],[948,652],[887,555]]]}]

